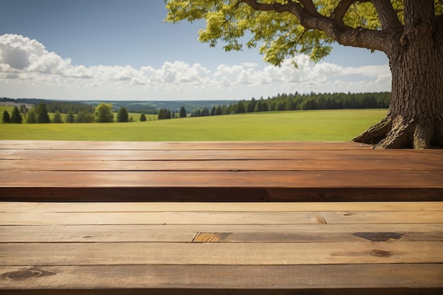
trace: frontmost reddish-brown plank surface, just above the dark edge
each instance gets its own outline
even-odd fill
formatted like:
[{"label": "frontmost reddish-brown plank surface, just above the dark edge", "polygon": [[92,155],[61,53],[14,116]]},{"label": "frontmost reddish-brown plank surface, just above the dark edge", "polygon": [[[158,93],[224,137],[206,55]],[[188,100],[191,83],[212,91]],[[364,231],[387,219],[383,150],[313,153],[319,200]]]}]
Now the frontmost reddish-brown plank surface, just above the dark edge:
[{"label": "frontmost reddish-brown plank surface, just above the dark edge", "polygon": [[[0,171],[0,187],[435,187],[443,170],[427,171]],[[265,180],[265,181],[263,181]],[[0,190],[1,194],[1,190]],[[1,194],[2,195],[2,194]]]}]

